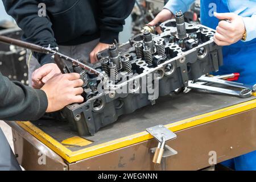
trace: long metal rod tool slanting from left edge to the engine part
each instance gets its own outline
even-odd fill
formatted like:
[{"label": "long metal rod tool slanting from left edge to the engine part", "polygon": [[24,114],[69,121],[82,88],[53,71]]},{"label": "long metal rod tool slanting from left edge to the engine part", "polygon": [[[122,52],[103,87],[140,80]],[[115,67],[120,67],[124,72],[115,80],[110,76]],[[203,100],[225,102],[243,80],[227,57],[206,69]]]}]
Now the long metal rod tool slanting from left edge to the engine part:
[{"label": "long metal rod tool slanting from left edge to the engine part", "polygon": [[81,68],[86,69],[90,73],[93,73],[96,75],[103,75],[101,72],[97,71],[96,69],[89,67],[88,65],[85,65],[85,64],[81,63],[80,61],[73,59],[72,57],[69,57],[69,56],[63,55],[60,52],[57,52],[57,50],[55,48],[42,47],[42,46],[38,46],[36,44],[27,43],[22,40],[9,38],[7,36],[2,36],[2,35],[0,35],[0,42],[6,43],[6,44],[12,44],[12,45],[18,46],[18,47],[23,47],[23,48],[30,49],[31,51],[35,51],[35,52],[53,55],[53,56],[55,56],[55,63],[60,68],[60,70],[63,71],[63,73],[68,73],[69,71],[67,70],[67,65],[65,64],[65,62],[62,59],[67,60],[73,64],[79,65]]}]

